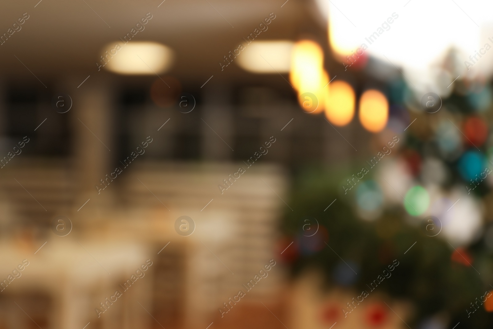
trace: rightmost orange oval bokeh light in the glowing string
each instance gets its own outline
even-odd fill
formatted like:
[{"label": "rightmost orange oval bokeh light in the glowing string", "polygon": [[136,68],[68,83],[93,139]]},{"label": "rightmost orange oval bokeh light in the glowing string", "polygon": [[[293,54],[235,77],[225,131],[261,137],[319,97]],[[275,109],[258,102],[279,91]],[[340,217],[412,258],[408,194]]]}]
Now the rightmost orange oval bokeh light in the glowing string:
[{"label": "rightmost orange oval bokeh light in the glowing string", "polygon": [[359,121],[372,133],[378,133],[387,125],[388,102],[382,92],[370,89],[359,100]]}]

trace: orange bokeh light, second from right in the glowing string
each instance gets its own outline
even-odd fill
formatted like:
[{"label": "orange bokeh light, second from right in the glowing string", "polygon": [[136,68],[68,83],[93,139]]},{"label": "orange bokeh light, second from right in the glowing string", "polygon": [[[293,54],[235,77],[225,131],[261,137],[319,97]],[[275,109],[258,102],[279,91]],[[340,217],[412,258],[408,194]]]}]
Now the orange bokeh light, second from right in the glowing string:
[{"label": "orange bokeh light, second from right in the glowing string", "polygon": [[329,86],[330,89],[325,91],[325,116],[336,126],[345,126],[354,116],[354,90],[342,80],[334,81]]}]

